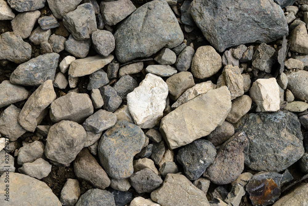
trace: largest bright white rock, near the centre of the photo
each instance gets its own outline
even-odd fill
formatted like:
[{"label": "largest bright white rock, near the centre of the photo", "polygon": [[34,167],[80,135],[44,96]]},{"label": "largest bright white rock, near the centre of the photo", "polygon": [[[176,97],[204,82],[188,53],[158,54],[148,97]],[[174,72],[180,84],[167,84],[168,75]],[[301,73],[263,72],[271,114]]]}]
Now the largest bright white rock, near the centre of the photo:
[{"label": "largest bright white rock, near the centre of the photo", "polygon": [[147,74],[138,87],[127,95],[127,106],[135,123],[152,128],[160,121],[166,106],[168,85],[162,78]]}]

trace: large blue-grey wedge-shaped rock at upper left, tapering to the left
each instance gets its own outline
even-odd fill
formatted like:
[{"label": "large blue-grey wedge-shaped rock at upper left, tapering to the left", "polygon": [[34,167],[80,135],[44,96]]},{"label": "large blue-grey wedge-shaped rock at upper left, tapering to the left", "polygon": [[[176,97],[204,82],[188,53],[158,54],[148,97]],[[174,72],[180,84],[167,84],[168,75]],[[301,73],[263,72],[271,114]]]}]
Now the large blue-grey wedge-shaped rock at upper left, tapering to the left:
[{"label": "large blue-grey wedge-shaped rock at upper left, tapering to the left", "polygon": [[60,55],[43,54],[20,64],[10,76],[10,82],[25,86],[39,86],[46,80],[54,80]]}]

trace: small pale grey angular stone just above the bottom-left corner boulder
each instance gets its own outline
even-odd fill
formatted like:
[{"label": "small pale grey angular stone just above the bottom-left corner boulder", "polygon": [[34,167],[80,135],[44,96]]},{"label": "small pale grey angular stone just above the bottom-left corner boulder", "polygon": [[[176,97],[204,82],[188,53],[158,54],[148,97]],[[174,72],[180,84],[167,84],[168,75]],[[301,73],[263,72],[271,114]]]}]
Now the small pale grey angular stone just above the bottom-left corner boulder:
[{"label": "small pale grey angular stone just above the bottom-left corner boulder", "polygon": [[33,163],[24,163],[22,167],[18,168],[18,171],[34,177],[36,179],[42,179],[47,177],[51,172],[51,164],[42,158],[36,159]]}]

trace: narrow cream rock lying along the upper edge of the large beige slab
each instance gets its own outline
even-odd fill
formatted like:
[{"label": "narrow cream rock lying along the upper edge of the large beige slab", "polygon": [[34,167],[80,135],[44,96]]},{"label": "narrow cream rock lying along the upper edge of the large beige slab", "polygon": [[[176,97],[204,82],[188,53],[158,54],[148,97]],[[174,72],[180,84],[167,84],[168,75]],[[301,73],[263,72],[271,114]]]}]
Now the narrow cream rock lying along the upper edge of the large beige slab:
[{"label": "narrow cream rock lying along the upper edge of the large beige slab", "polygon": [[213,84],[212,81],[196,84],[192,88],[187,89],[171,107],[175,109],[181,104],[184,104],[185,102],[188,102],[189,100],[199,96],[200,94],[206,93],[211,89],[216,89],[216,84]]}]

